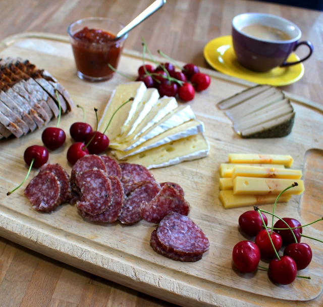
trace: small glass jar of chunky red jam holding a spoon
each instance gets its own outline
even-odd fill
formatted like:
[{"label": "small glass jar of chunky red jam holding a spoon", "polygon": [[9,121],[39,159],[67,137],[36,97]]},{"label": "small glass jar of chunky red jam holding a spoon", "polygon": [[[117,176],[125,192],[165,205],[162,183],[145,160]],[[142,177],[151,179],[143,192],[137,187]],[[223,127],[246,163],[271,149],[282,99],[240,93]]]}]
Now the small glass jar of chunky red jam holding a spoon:
[{"label": "small glass jar of chunky red jam holding a spoon", "polygon": [[114,40],[116,36],[100,29],[82,30],[73,34],[72,48],[78,74],[82,79],[108,80],[117,69],[123,49],[123,42]]}]

